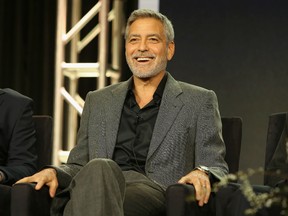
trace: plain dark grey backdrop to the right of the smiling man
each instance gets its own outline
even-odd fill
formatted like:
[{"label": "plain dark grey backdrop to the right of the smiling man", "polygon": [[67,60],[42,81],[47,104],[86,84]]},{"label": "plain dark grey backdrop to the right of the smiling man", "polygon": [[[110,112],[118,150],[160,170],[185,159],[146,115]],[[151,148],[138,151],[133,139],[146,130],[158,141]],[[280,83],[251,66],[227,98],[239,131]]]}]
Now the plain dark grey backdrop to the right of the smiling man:
[{"label": "plain dark grey backdrop to the right of the smiling man", "polygon": [[268,116],[288,110],[288,1],[180,2],[160,1],[176,32],[168,70],[213,89],[222,115],[242,117],[240,169],[263,167]]}]

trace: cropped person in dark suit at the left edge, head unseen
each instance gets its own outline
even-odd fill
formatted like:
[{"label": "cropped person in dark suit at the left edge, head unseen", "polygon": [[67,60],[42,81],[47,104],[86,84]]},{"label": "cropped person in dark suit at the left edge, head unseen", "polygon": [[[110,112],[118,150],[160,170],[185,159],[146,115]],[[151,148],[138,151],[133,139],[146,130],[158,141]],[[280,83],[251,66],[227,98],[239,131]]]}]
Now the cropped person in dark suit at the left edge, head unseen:
[{"label": "cropped person in dark suit at the left edge, head unseen", "polygon": [[32,99],[0,89],[0,215],[10,215],[11,185],[36,172]]}]

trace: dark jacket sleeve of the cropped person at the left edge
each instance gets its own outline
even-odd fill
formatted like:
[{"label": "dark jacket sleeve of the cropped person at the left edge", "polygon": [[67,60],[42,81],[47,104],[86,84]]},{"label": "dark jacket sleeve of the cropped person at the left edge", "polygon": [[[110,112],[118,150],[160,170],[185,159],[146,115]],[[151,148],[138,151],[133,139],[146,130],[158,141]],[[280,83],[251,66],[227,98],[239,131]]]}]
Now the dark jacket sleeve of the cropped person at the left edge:
[{"label": "dark jacket sleeve of the cropped person at the left edge", "polygon": [[0,170],[5,173],[4,184],[13,184],[17,180],[30,176],[36,172],[36,132],[33,122],[33,101],[25,100],[20,106],[21,112],[15,117],[9,143],[6,165],[1,165]]}]

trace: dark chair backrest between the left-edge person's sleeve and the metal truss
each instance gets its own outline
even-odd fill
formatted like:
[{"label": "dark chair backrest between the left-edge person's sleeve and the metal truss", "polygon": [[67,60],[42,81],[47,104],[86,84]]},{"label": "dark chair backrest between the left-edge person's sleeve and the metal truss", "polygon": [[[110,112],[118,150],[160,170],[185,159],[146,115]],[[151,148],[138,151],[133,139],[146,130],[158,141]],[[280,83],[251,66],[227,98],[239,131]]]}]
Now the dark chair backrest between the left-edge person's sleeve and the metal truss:
[{"label": "dark chair backrest between the left-edge person's sleeve and the metal truss", "polygon": [[38,168],[52,162],[52,127],[53,119],[48,115],[33,116],[37,139]]}]

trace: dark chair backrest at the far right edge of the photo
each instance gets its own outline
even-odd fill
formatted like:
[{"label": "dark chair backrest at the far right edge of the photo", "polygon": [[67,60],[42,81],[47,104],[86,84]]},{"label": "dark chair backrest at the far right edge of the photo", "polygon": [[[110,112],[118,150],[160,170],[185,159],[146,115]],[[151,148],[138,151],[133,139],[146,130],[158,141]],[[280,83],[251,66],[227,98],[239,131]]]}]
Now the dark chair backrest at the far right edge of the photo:
[{"label": "dark chair backrest at the far right edge of the photo", "polygon": [[[287,119],[287,112],[273,113],[269,116],[264,164],[265,171],[276,171],[276,169],[281,169],[285,166],[283,163],[286,161],[287,153],[285,140],[283,140],[285,137],[282,137],[282,135],[285,133]],[[280,179],[280,176],[271,176],[271,173],[268,173],[264,175],[264,185],[273,186]]]}]

